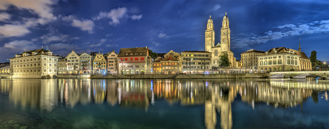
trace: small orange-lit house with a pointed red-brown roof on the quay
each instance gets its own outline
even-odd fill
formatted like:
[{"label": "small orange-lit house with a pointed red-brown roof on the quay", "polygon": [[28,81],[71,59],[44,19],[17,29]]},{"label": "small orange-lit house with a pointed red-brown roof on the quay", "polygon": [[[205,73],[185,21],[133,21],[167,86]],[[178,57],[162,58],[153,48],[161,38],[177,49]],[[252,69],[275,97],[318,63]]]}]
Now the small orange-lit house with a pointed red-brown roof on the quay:
[{"label": "small orange-lit house with a pointed red-brown roof on the quay", "polygon": [[181,71],[180,61],[172,55],[160,61],[162,64],[162,73],[165,74],[179,74]]}]

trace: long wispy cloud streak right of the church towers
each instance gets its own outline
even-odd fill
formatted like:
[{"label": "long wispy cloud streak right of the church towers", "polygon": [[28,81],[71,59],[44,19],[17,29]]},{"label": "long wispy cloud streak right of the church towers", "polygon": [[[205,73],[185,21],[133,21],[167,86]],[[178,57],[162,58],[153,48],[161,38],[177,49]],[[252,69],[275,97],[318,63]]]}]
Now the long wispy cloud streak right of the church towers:
[{"label": "long wispy cloud streak right of the church towers", "polygon": [[247,38],[235,39],[232,41],[232,48],[241,48],[247,45],[252,45],[255,43],[265,43],[270,40],[281,39],[286,36],[300,35],[300,34],[312,34],[320,32],[329,32],[329,20],[316,21],[312,24],[303,24],[303,25],[283,25],[276,27],[279,29],[276,32],[268,31],[265,32],[265,36],[257,36]]}]

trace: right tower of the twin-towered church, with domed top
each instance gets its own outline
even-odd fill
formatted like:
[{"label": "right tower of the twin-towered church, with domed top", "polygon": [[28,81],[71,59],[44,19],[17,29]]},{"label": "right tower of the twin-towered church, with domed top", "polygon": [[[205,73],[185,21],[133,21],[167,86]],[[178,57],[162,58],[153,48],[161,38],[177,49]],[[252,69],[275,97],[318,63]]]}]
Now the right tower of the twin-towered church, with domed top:
[{"label": "right tower of the twin-towered church, with domed top", "polygon": [[220,45],[222,52],[230,52],[230,43],[231,42],[231,30],[229,28],[228,17],[225,12],[225,16],[223,18],[222,28],[220,30]]}]

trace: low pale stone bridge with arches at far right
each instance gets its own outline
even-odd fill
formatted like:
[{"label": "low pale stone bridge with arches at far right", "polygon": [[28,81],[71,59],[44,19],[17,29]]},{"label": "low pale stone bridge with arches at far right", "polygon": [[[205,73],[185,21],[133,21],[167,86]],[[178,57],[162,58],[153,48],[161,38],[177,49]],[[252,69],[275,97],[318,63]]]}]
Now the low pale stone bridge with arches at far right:
[{"label": "low pale stone bridge with arches at far right", "polygon": [[290,77],[290,78],[305,78],[306,76],[320,76],[327,79],[329,71],[288,71],[288,72],[270,72],[267,77]]}]

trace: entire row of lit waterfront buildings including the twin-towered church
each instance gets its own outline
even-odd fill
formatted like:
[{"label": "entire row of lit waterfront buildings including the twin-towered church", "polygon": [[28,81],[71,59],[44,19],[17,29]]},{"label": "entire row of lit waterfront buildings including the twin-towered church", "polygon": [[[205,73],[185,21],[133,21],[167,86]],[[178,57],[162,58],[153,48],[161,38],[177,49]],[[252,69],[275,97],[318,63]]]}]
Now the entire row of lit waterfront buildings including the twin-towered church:
[{"label": "entire row of lit waterfront buildings including the twin-towered church", "polygon": [[[119,54],[91,52],[67,56],[53,55],[51,51],[37,49],[24,51],[10,58],[10,72],[16,75],[56,76],[58,74],[92,73],[208,73],[219,70],[219,55],[227,52],[230,68],[244,71],[312,70],[310,59],[300,51],[279,47],[269,51],[248,50],[237,61],[230,50],[231,31],[225,13],[220,30],[220,43],[215,44],[214,22],[208,19],[205,31],[205,51],[170,51],[152,60],[148,47],[121,48]],[[243,70],[241,71],[241,68]],[[247,70],[248,69],[248,70]]]}]

